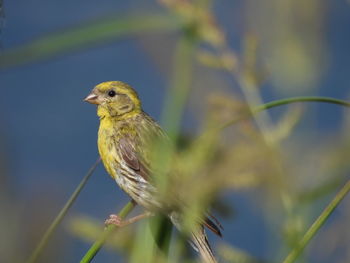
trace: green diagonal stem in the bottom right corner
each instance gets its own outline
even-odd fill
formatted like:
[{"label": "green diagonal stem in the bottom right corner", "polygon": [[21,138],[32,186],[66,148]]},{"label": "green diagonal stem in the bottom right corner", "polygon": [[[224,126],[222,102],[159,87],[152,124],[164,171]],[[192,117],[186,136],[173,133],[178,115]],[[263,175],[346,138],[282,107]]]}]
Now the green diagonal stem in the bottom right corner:
[{"label": "green diagonal stem in the bottom right corner", "polygon": [[309,230],[305,233],[300,242],[294,247],[294,249],[288,254],[283,263],[294,262],[299,255],[303,252],[310,240],[315,236],[318,230],[327,221],[329,216],[332,214],[334,209],[339,205],[339,203],[344,199],[344,197],[350,191],[350,180],[343,186],[342,189],[337,193],[334,199],[329,203],[329,205],[323,210],[316,221],[311,225]]}]

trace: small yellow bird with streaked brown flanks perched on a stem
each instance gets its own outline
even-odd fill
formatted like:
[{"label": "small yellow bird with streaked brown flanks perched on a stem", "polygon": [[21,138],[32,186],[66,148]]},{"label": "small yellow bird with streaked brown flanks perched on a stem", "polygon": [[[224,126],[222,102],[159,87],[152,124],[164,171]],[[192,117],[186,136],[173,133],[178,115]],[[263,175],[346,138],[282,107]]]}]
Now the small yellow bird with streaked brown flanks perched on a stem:
[{"label": "small yellow bird with streaked brown flanks perched on a stem", "polygon": [[[97,105],[100,119],[97,145],[107,173],[146,210],[128,220],[110,215],[106,224],[125,226],[161,211],[181,231],[180,209],[160,200],[153,178],[156,171],[152,164],[152,144],[169,139],[160,125],[143,111],[137,92],[124,82],[107,81],[96,85],[84,101]],[[217,260],[204,227],[222,236],[221,224],[208,213],[198,220],[197,227],[189,234],[189,241],[203,262],[214,263]]]}]

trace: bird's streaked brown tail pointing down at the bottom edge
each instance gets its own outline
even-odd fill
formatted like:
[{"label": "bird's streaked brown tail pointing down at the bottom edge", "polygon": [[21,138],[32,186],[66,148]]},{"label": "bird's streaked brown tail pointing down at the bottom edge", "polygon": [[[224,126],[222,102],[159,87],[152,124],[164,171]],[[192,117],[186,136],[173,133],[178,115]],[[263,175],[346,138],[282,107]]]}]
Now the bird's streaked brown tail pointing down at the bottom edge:
[{"label": "bird's streaked brown tail pointing down at the bottom edge", "polygon": [[204,263],[217,263],[213,251],[209,245],[204,227],[201,226],[196,232],[192,232],[192,246],[199,253]]}]

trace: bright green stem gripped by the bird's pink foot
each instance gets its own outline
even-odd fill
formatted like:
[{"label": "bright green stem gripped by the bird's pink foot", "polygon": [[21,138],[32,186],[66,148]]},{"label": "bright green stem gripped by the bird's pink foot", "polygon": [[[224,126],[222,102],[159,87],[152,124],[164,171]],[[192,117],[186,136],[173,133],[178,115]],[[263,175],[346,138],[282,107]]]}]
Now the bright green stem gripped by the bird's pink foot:
[{"label": "bright green stem gripped by the bird's pink foot", "polygon": [[[134,209],[135,206],[136,206],[136,203],[133,200],[131,200],[122,208],[118,216],[121,219],[124,219]],[[116,225],[108,225],[106,229],[103,231],[102,235],[95,241],[95,243],[92,244],[90,249],[86,252],[84,257],[81,259],[80,263],[91,262],[91,260],[95,257],[95,255],[101,249],[103,244],[106,242],[110,234],[117,228],[118,227]]]}]

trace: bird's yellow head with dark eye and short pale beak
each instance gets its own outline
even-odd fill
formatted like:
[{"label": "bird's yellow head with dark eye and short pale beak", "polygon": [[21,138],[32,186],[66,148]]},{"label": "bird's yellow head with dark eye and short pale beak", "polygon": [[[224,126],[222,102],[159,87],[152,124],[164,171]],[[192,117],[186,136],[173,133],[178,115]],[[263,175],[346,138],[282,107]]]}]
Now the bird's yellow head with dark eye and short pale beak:
[{"label": "bird's yellow head with dark eye and short pale beak", "polygon": [[97,114],[100,117],[121,117],[141,111],[141,102],[136,91],[121,81],[98,84],[84,101],[97,104]]}]

